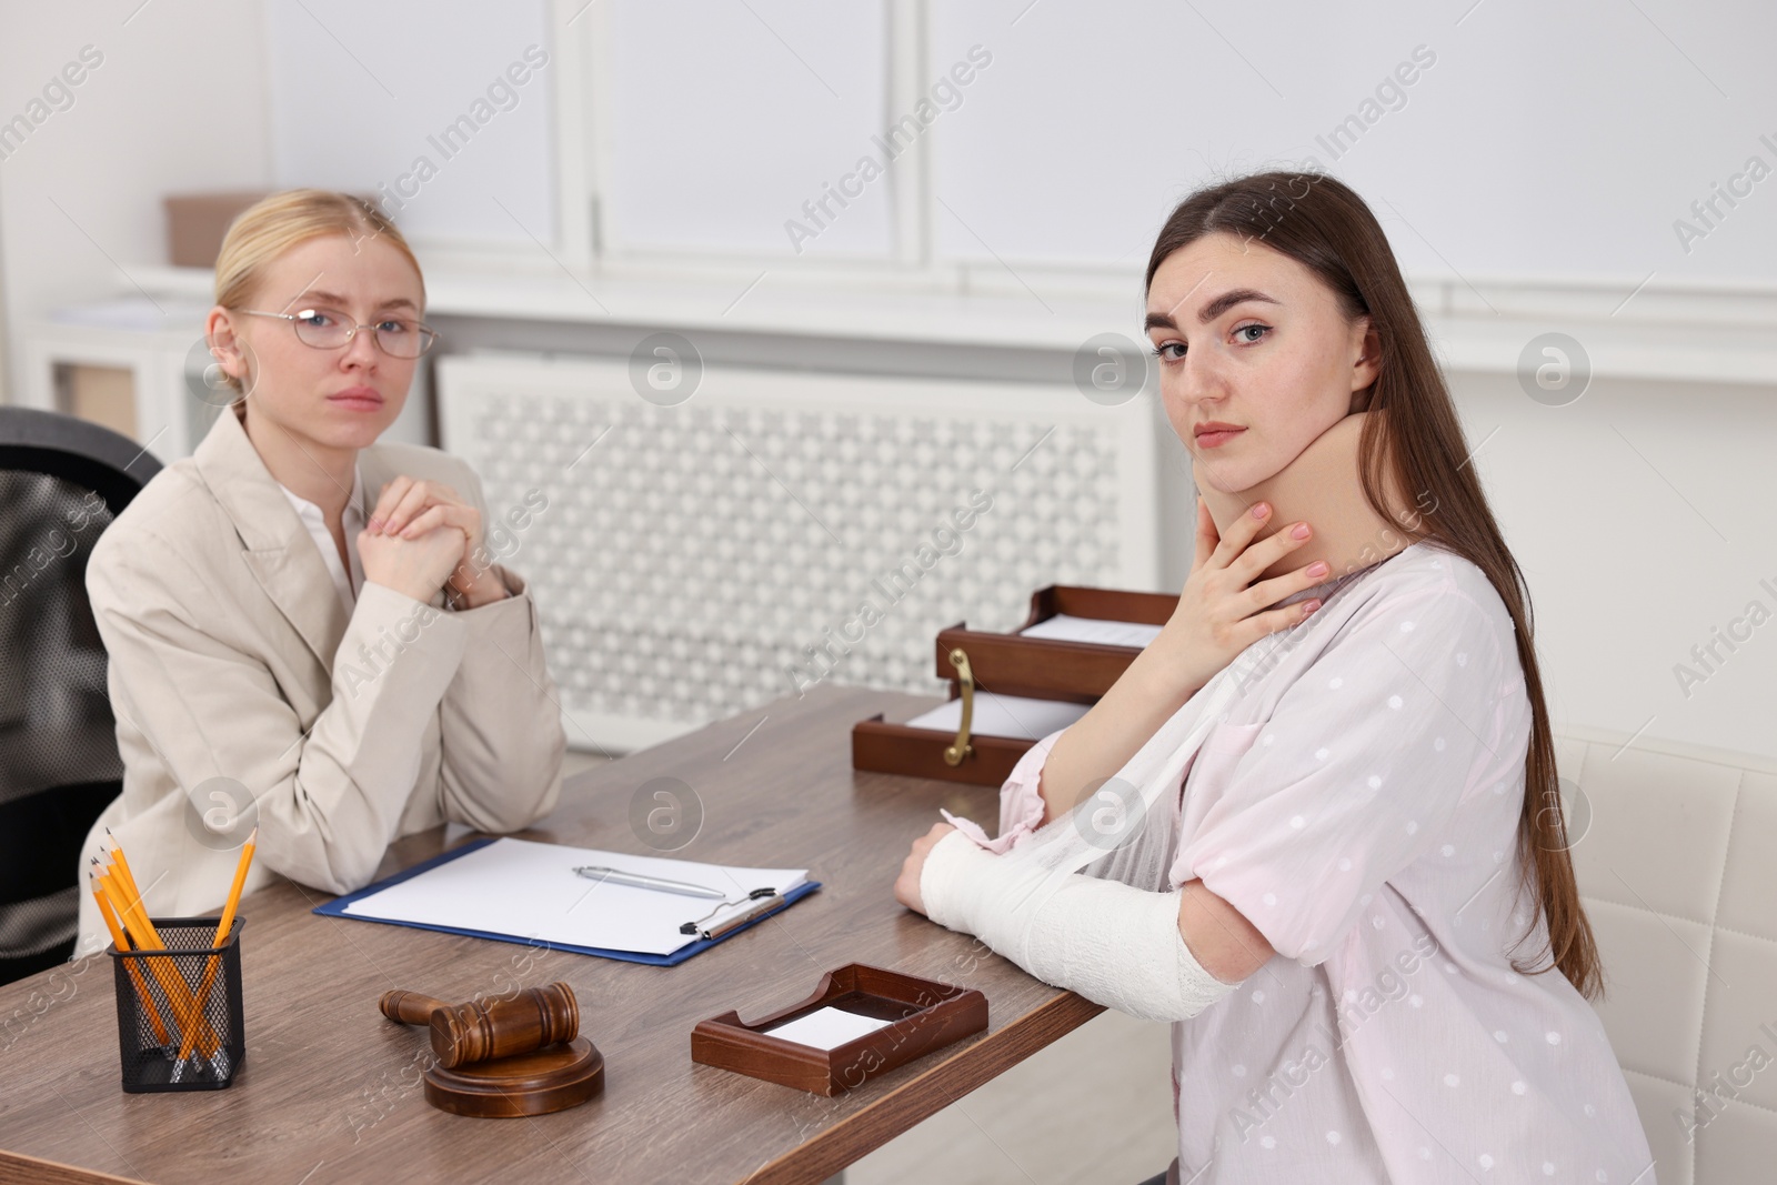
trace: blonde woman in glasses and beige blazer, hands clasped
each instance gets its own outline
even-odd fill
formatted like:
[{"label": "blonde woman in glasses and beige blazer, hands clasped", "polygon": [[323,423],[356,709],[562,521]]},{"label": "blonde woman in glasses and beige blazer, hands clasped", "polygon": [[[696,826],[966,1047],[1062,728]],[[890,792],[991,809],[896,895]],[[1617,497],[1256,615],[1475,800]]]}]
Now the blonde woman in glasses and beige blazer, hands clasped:
[{"label": "blonde woman in glasses and beige blazer, hands clasped", "polygon": [[[208,339],[238,398],[100,538],[87,590],[110,654],[123,796],[94,824],[151,915],[247,888],[368,883],[389,842],[549,812],[563,734],[524,581],[492,563],[547,494],[499,506],[437,449],[379,444],[434,341],[400,231],[343,194],[242,213]],[[80,950],[107,942],[82,894]]]}]

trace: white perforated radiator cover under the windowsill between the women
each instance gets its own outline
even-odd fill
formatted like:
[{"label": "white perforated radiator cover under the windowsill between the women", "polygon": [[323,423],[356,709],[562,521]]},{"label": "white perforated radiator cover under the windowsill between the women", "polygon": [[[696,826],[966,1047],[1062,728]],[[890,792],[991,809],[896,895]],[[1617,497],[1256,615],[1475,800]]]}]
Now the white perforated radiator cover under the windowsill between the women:
[{"label": "white perforated radiator cover under the windowsill between the women", "polygon": [[1011,629],[1050,583],[1157,588],[1148,398],[709,366],[659,407],[629,373],[437,364],[442,446],[530,581],[574,748],[641,748],[821,680],[936,693],[945,625]]}]

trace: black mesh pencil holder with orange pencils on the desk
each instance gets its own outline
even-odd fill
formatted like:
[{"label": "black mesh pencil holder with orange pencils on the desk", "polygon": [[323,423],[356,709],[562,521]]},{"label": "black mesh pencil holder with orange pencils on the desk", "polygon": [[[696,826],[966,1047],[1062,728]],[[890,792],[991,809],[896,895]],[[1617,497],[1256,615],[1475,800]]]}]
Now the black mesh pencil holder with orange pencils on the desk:
[{"label": "black mesh pencil holder with orange pencils on the desk", "polygon": [[[240,927],[220,947],[213,917],[149,919],[165,950],[119,950],[117,1046],[123,1089],[220,1091],[247,1061],[240,1013]],[[183,1055],[181,1055],[183,1054]]]}]

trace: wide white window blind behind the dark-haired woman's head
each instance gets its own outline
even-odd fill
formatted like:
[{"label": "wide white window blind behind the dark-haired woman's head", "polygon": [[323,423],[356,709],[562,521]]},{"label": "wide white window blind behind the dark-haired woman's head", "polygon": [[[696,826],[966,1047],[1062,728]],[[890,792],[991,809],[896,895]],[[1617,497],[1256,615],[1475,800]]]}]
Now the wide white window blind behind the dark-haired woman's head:
[{"label": "wide white window blind behind the dark-haired woman's head", "polygon": [[1777,176],[1690,251],[1672,229],[1777,167],[1765,0],[960,0],[933,27],[931,75],[993,53],[933,126],[942,256],[1144,263],[1208,176],[1315,158],[1407,274],[1777,282]]}]

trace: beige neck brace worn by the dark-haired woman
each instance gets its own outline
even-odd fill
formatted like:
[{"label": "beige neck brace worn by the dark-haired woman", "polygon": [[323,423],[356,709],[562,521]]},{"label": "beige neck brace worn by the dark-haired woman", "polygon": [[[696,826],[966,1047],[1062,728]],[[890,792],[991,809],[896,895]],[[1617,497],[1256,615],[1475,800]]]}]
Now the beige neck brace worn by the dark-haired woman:
[{"label": "beige neck brace worn by the dark-haired woman", "polygon": [[1404,528],[1418,526],[1420,519],[1395,489],[1391,469],[1384,465],[1384,499],[1395,522],[1377,515],[1363,496],[1358,442],[1370,414],[1352,412],[1335,421],[1295,460],[1242,490],[1219,490],[1205,480],[1196,481],[1219,535],[1226,535],[1237,515],[1262,501],[1271,503],[1271,521],[1258,538],[1269,538],[1299,521],[1313,528],[1306,544],[1265,569],[1260,579],[1294,572],[1315,560],[1326,560],[1333,572],[1327,579],[1338,579],[1381,563],[1407,545]]}]

